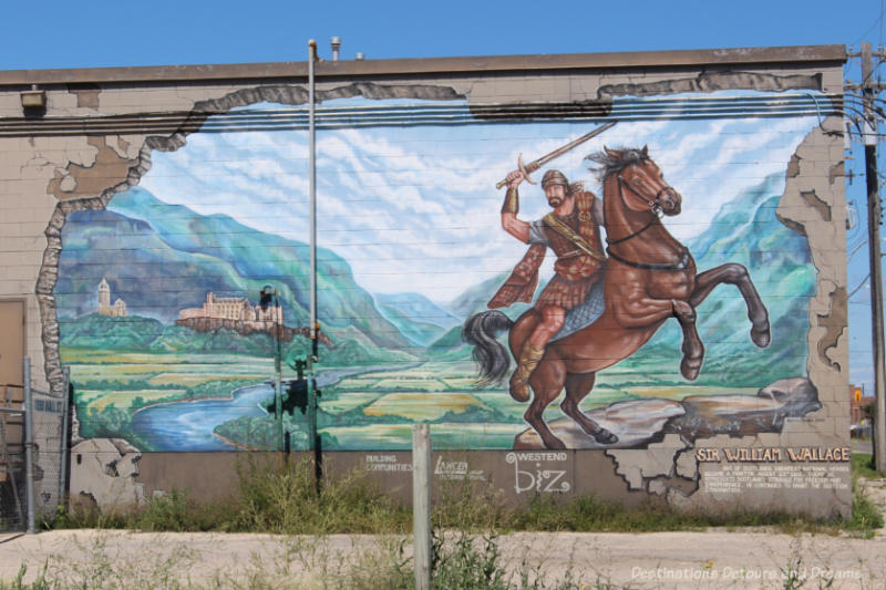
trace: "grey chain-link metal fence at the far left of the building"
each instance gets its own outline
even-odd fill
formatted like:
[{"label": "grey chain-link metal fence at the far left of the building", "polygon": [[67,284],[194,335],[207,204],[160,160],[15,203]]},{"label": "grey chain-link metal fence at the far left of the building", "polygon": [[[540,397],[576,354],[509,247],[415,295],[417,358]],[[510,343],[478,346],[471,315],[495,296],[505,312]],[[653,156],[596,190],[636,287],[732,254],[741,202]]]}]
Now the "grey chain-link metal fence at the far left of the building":
[{"label": "grey chain-link metal fence at the far left of the building", "polygon": [[0,530],[33,532],[65,501],[70,386],[65,370],[63,392],[34,389],[29,359],[23,369],[0,405]]}]

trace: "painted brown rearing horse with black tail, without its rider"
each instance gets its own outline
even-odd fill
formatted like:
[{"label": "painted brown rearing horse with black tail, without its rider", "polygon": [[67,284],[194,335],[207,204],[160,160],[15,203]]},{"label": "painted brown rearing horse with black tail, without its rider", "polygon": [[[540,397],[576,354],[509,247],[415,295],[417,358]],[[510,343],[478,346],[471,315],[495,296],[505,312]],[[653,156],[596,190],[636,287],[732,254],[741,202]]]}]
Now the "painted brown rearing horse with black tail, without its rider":
[{"label": "painted brown rearing horse with black tail, without its rider", "polygon": [[[751,340],[770,343],[769,313],[748,269],[728,263],[699,275],[689,250],[661,224],[660,215],[679,215],[682,197],[664,183],[661,170],[646,146],[642,149],[608,149],[588,156],[602,180],[604,211],[609,260],[606,268],[606,309],[594,323],[552,341],[529,377],[534,398],[524,414],[547,448],[565,448],[544,421],[545,408],[566,389],[563,412],[598,443],[615,444],[618,437],[599,426],[579,408],[594,387],[598,371],[627,359],[642,346],[669,318],[683,332],[680,372],[694,380],[701,370],[704,345],[696,330],[696,308],[714,287],[734,284],[744,297],[751,320]],[[514,355],[523,348],[539,313],[530,309],[516,322],[501,311],[472,315],[462,331],[474,344],[474,359],[482,382],[498,382],[509,369],[507,351],[495,340],[511,330]]]}]

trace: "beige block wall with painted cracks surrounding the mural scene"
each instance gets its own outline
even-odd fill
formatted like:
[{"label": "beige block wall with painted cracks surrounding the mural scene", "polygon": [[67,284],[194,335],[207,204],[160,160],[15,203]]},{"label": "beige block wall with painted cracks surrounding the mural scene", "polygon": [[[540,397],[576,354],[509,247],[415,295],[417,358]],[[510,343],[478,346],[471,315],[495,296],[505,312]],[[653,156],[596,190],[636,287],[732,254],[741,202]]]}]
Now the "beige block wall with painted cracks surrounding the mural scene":
[{"label": "beige block wall with painted cracks surrounding the mural scene", "polygon": [[[746,55],[739,50],[699,52],[694,59],[680,52],[645,56],[562,56],[559,60],[544,56],[523,61],[492,58],[478,59],[475,70],[464,60],[327,63],[318,66],[317,87],[320,100],[353,95],[423,96],[465,99],[471,106],[533,102],[571,103],[601,110],[607,108],[614,95],[667,95],[725,89],[841,93],[843,58],[839,52],[833,48],[817,53],[813,50],[781,53],[755,50]],[[200,79],[202,75],[206,77]],[[22,121],[19,93],[28,87],[28,80],[41,81],[48,107],[42,116]],[[69,84],[71,80],[74,82]],[[3,268],[0,298],[27,300],[27,353],[32,359],[37,387],[61,394],[58,325],[51,290],[62,246],[60,230],[64,215],[74,208],[103,208],[115,192],[137,184],[150,168],[152,149],[173,149],[186,142],[186,134],[175,128],[188,116],[204,116],[194,115],[195,110],[224,112],[260,101],[300,104],[306,99],[303,64],[256,65],[251,70],[216,66],[200,71],[60,71],[54,74],[38,72],[30,77],[14,72],[0,73],[0,265]],[[133,126],[137,127],[145,113],[165,113],[167,128],[138,133]],[[91,136],[44,135],[53,118],[75,117],[74,124],[89,125],[96,117],[110,115],[132,115],[125,123],[127,131],[121,133],[112,126],[105,133]],[[9,131],[13,125],[22,130],[19,136]],[[790,422],[781,434],[763,434],[751,439],[720,436],[705,441],[705,446],[833,447],[847,442],[842,131],[839,117],[824,121],[802,143],[795,159],[785,163],[787,183],[777,211],[789,227],[808,237],[818,269],[818,289],[808,310],[808,375],[818,390],[823,408],[808,420]],[[657,448],[656,453],[650,449],[612,452],[607,453],[606,458],[595,453],[593,460],[614,465],[610,479],[622,486],[625,497],[648,493],[690,507],[720,501],[715,497],[711,500],[710,496],[687,494],[687,487],[694,485],[691,483],[703,485],[704,474],[713,469],[711,464],[699,466],[683,453],[684,445],[679,439],[666,438]],[[480,468],[487,473],[501,472],[497,479],[504,482],[514,475],[509,470],[513,467],[503,463],[503,452],[494,452],[472,460],[480,462]],[[194,460],[199,463],[190,454],[145,456],[140,463],[141,473],[128,474],[130,484],[136,485],[137,480],[137,485],[144,485],[147,496],[168,487],[187,487],[188,477],[194,474],[188,466]],[[212,497],[230,486],[233,460],[229,454],[212,459],[213,464],[218,464],[218,469],[210,472],[218,474],[219,480],[195,482],[199,495]],[[569,460],[573,464],[570,491],[585,490],[581,483],[587,480],[588,474],[575,467],[574,458]],[[357,463],[362,462],[358,458]],[[72,467],[75,469],[75,465]],[[212,477],[208,473],[205,475]],[[78,473],[78,477],[82,478],[83,474]],[[847,473],[841,477],[848,482]],[[502,489],[515,485],[518,487],[518,483],[508,480],[502,484]],[[615,490],[614,485],[587,489]],[[132,489],[125,493],[142,494]],[[612,495],[618,494],[614,491]],[[833,498],[821,494],[810,497],[808,503],[800,505],[818,511],[845,514],[851,503],[845,489],[834,491]],[[766,508],[797,506],[793,498],[777,494],[760,493],[745,500]]]}]

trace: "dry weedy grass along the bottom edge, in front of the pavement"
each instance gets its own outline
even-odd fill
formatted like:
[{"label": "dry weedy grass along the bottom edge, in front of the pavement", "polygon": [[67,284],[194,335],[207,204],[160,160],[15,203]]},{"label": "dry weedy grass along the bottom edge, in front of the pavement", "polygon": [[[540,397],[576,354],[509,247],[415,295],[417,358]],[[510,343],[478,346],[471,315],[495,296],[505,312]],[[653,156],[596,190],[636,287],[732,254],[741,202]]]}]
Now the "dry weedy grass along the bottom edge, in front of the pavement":
[{"label": "dry weedy grass along the bottom edge, in front of the pavement", "polygon": [[[11,581],[0,581],[0,590],[412,590],[414,573],[406,556],[405,540],[357,545],[347,552],[322,541],[282,538],[269,547],[264,559],[254,558],[245,569],[218,567],[212,576],[190,579],[196,551],[183,544],[152,547],[143,544],[137,555],[119,551],[115,539],[95,536],[86,542],[74,539],[64,555],[52,556],[35,576],[25,581],[22,566]],[[208,580],[207,580],[208,578]],[[432,586],[434,590],[578,590],[609,588],[578,583],[568,573],[548,582],[540,567],[525,562],[507,567],[495,535],[466,534],[433,542]]]}]

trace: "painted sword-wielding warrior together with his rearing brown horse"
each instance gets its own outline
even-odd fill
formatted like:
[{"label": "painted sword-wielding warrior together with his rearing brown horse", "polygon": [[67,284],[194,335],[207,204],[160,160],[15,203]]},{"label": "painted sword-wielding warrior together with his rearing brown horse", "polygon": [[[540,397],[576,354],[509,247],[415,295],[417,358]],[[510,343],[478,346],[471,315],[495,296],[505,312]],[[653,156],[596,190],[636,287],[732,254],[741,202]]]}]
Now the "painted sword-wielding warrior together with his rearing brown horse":
[{"label": "painted sword-wielding warrior together with his rearing brown horse", "polygon": [[[570,145],[576,144],[566,147]],[[729,262],[698,272],[689,249],[661,222],[661,216],[680,214],[682,197],[664,182],[646,146],[604,148],[588,159],[598,165],[595,169],[602,184],[604,215],[597,213],[598,199],[584,190],[568,190],[566,178],[548,170],[544,186],[554,211],[535,224],[517,219],[516,187],[525,170],[538,168],[538,161],[529,166],[518,161],[521,170],[511,173],[504,182],[508,193],[502,226],[532,246],[490,307],[530,300],[537,284],[536,258],[540,260],[548,246],[558,257],[557,275],[536,306],[516,320],[493,309],[468,318],[462,330],[465,341],[474,345],[481,383],[498,382],[507,373],[508,351],[495,337],[508,332],[508,348],[518,362],[511,394],[522,401],[532,396],[524,418],[547,448],[566,448],[544,417],[545,408],[564,391],[560,410],[585,434],[598,445],[618,442],[615,433],[588,417],[579,404],[594,389],[597,372],[637,352],[671,318],[683,333],[680,372],[689,381],[697,379],[704,345],[696,328],[696,309],[720,284],[736,287],[744,299],[753,343],[765,348],[771,339],[769,313],[748,269]],[[605,265],[595,221],[605,222],[609,244]],[[589,287],[580,281],[587,281]],[[564,319],[567,324],[570,322],[566,311],[571,306],[596,301],[593,291],[598,291],[596,284],[600,282],[605,307],[590,314],[591,323],[566,334],[556,333]],[[583,293],[589,292],[591,297],[583,301]]]}]

